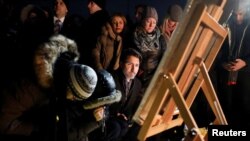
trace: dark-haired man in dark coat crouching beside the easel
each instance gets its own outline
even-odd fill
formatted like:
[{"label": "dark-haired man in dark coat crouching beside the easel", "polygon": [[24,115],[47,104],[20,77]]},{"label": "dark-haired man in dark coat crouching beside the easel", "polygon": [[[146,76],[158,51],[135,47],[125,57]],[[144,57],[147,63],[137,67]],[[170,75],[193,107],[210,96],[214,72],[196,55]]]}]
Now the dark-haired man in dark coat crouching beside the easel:
[{"label": "dark-haired man in dark coat crouching beside the easel", "polygon": [[122,99],[109,106],[106,136],[103,138],[105,141],[122,139],[133,124],[132,117],[141,100],[141,82],[136,78],[141,59],[138,51],[128,48],[122,53],[120,68],[112,72]]}]

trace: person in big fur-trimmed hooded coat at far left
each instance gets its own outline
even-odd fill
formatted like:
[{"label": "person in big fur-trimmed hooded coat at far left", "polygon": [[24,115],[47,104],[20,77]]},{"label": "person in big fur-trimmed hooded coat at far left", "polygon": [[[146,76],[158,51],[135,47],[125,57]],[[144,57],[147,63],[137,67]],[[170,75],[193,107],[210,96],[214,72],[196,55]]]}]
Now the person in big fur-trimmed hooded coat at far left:
[{"label": "person in big fur-trimmed hooded coat at far left", "polygon": [[30,74],[20,77],[0,93],[1,141],[48,141],[53,139],[54,65],[61,53],[76,61],[76,43],[62,35],[34,46]]}]

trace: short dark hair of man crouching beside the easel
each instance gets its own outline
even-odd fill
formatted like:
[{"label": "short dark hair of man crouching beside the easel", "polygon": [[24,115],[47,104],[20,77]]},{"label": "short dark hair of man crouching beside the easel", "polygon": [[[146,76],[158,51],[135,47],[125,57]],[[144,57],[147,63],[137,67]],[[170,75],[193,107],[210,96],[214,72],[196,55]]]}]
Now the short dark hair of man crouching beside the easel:
[{"label": "short dark hair of man crouching beside the easel", "polygon": [[122,54],[121,54],[120,61],[125,62],[125,60],[128,58],[128,56],[135,56],[135,57],[139,58],[140,63],[142,62],[141,53],[139,51],[137,51],[136,49],[133,49],[133,48],[124,49]]}]

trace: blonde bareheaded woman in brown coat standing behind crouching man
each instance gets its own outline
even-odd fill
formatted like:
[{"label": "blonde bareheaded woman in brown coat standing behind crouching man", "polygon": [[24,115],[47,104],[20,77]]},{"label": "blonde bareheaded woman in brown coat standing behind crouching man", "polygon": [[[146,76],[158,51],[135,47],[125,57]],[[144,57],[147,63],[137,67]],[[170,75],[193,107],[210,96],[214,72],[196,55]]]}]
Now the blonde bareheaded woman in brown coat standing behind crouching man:
[{"label": "blonde bareheaded woman in brown coat standing behind crouching man", "polygon": [[102,27],[102,34],[98,37],[92,51],[93,68],[95,70],[116,70],[122,51],[122,32],[127,20],[123,14],[115,13],[109,22]]}]

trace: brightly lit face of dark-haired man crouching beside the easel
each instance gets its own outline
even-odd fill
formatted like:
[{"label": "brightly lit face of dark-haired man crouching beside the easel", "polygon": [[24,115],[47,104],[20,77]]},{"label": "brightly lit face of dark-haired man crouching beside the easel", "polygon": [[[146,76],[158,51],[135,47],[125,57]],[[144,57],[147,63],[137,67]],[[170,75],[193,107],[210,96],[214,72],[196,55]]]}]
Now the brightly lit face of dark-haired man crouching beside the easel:
[{"label": "brightly lit face of dark-haired man crouching beside the easel", "polygon": [[134,79],[137,72],[139,71],[140,60],[135,56],[128,56],[126,61],[121,64],[123,74],[127,81]]}]

